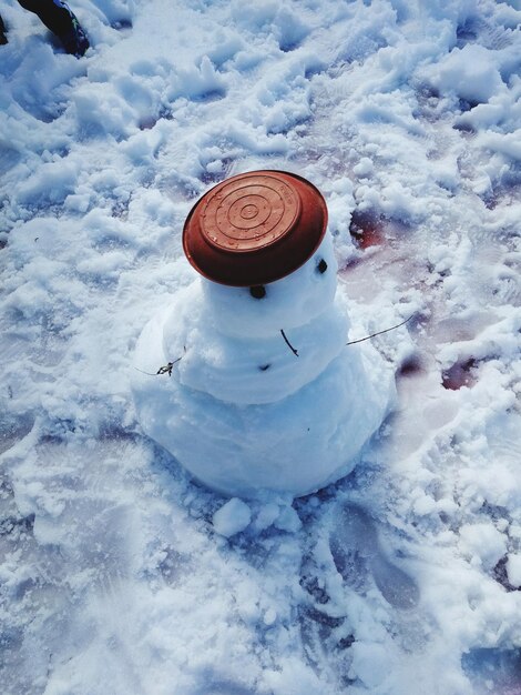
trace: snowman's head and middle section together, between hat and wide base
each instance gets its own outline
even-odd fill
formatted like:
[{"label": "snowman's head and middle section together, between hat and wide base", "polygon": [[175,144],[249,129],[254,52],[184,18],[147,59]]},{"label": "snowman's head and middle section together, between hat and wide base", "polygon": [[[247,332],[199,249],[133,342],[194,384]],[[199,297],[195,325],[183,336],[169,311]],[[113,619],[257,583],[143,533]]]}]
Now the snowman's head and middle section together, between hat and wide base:
[{"label": "snowman's head and middle section together, between hat and wide base", "polygon": [[236,404],[273,403],[314,381],[344,350],[347,311],[335,298],[333,241],[255,298],[248,288],[202,280],[180,292],[163,349],[183,386]]}]

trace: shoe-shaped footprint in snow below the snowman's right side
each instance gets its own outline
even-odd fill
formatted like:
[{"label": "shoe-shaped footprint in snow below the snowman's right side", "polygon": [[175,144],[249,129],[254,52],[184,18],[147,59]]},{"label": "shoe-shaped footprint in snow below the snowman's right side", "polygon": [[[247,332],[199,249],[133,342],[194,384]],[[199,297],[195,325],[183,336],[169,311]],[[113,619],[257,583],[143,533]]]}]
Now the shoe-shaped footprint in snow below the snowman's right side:
[{"label": "shoe-shaped footprint in snow below the snowman's right side", "polygon": [[341,507],[339,520],[329,537],[329,546],[337,571],[355,591],[362,588],[366,575],[370,573],[391,606],[407,611],[418,605],[418,585],[387,558],[374,522],[359,506]]}]

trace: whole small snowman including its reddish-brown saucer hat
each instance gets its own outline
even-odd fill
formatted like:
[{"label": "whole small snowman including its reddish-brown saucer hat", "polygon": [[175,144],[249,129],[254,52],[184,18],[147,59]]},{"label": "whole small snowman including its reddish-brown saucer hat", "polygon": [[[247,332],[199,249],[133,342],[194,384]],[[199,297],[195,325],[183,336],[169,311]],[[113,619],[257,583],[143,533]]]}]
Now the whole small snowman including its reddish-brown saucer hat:
[{"label": "whole small snowman including its reddish-brown saucer hat", "polygon": [[394,379],[369,343],[346,346],[323,195],[293,173],[238,174],[194,205],[183,248],[198,275],[136,345],[144,432],[228,496],[302,496],[349,473]]}]

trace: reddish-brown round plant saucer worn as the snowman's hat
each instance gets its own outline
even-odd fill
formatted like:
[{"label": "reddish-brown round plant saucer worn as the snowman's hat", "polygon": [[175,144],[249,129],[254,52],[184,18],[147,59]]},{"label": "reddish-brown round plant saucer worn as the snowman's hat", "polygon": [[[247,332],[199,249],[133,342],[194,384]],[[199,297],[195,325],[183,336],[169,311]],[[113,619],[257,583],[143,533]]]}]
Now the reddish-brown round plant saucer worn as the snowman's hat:
[{"label": "reddish-brown round plant saucer worn as the snowman's hat", "polygon": [[222,181],[195,203],[183,249],[208,280],[264,285],[309,260],[326,226],[326,201],[313,183],[286,171],[251,171]]}]

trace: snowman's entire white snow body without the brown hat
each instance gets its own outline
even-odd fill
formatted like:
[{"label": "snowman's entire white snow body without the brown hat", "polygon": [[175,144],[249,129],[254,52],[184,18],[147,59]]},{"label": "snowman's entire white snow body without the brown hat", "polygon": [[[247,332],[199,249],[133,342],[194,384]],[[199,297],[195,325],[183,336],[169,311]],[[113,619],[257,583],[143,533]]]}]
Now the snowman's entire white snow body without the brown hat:
[{"label": "snowman's entire white snow body without the brown hat", "polygon": [[[262,299],[203,278],[181,290],[136,345],[144,432],[226,495],[300,496],[349,473],[386,415],[394,380],[368,342],[346,346],[336,274],[326,233]],[[178,357],[171,376],[142,373]]]}]

